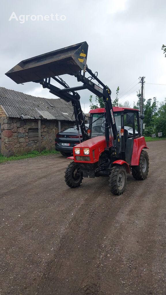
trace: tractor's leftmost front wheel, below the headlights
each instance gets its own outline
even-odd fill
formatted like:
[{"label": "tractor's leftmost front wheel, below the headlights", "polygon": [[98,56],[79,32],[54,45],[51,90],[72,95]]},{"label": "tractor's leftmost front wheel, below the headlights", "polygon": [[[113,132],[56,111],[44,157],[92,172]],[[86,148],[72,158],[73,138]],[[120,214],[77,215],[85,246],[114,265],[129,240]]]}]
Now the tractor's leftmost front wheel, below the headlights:
[{"label": "tractor's leftmost front wheel, below the headlights", "polygon": [[82,183],[83,173],[80,171],[79,163],[71,162],[65,171],[65,182],[71,187],[75,188]]}]

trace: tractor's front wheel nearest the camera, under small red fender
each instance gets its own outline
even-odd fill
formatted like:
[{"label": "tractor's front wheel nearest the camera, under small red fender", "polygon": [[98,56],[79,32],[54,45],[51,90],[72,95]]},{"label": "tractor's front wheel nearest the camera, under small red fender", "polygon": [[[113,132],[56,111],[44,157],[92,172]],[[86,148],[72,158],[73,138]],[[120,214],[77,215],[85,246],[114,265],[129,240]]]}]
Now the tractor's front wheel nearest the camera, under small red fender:
[{"label": "tractor's front wheel nearest the camera, under small red fender", "polygon": [[127,173],[123,166],[114,166],[109,179],[109,187],[114,195],[123,194],[126,188]]}]

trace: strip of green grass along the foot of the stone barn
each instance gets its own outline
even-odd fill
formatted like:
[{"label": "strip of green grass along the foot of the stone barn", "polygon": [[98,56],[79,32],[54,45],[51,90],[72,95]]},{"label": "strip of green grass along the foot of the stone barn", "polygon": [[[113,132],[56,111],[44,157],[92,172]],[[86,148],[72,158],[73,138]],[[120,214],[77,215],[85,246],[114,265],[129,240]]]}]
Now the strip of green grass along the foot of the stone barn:
[{"label": "strip of green grass along the foot of the stone barn", "polygon": [[23,154],[23,155],[15,155],[11,157],[4,157],[2,154],[0,154],[0,163],[4,163],[7,161],[14,161],[14,160],[22,160],[22,159],[27,159],[27,158],[35,158],[35,157],[40,157],[40,156],[45,156],[45,155],[54,155],[58,154],[56,150],[44,150],[43,152],[38,152],[36,150],[33,150],[29,153]]}]

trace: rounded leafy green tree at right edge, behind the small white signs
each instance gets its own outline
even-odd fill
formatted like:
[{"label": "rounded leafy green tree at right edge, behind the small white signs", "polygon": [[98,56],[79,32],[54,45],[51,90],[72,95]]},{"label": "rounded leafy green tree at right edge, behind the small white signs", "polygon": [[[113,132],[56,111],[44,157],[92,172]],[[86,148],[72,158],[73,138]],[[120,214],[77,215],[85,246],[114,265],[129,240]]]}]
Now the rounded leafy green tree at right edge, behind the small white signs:
[{"label": "rounded leafy green tree at right edge, behind the small white signs", "polygon": [[158,114],[154,118],[155,131],[162,132],[162,136],[166,137],[166,98],[160,103]]}]

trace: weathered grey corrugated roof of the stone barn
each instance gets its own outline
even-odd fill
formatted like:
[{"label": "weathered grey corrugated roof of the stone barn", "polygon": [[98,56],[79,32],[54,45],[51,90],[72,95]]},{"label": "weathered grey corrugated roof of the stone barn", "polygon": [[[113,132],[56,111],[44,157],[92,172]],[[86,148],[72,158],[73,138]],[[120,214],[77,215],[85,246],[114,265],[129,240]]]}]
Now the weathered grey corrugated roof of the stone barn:
[{"label": "weathered grey corrugated roof of the stone barn", "polygon": [[0,106],[7,117],[74,121],[71,102],[35,97],[0,87]]}]

